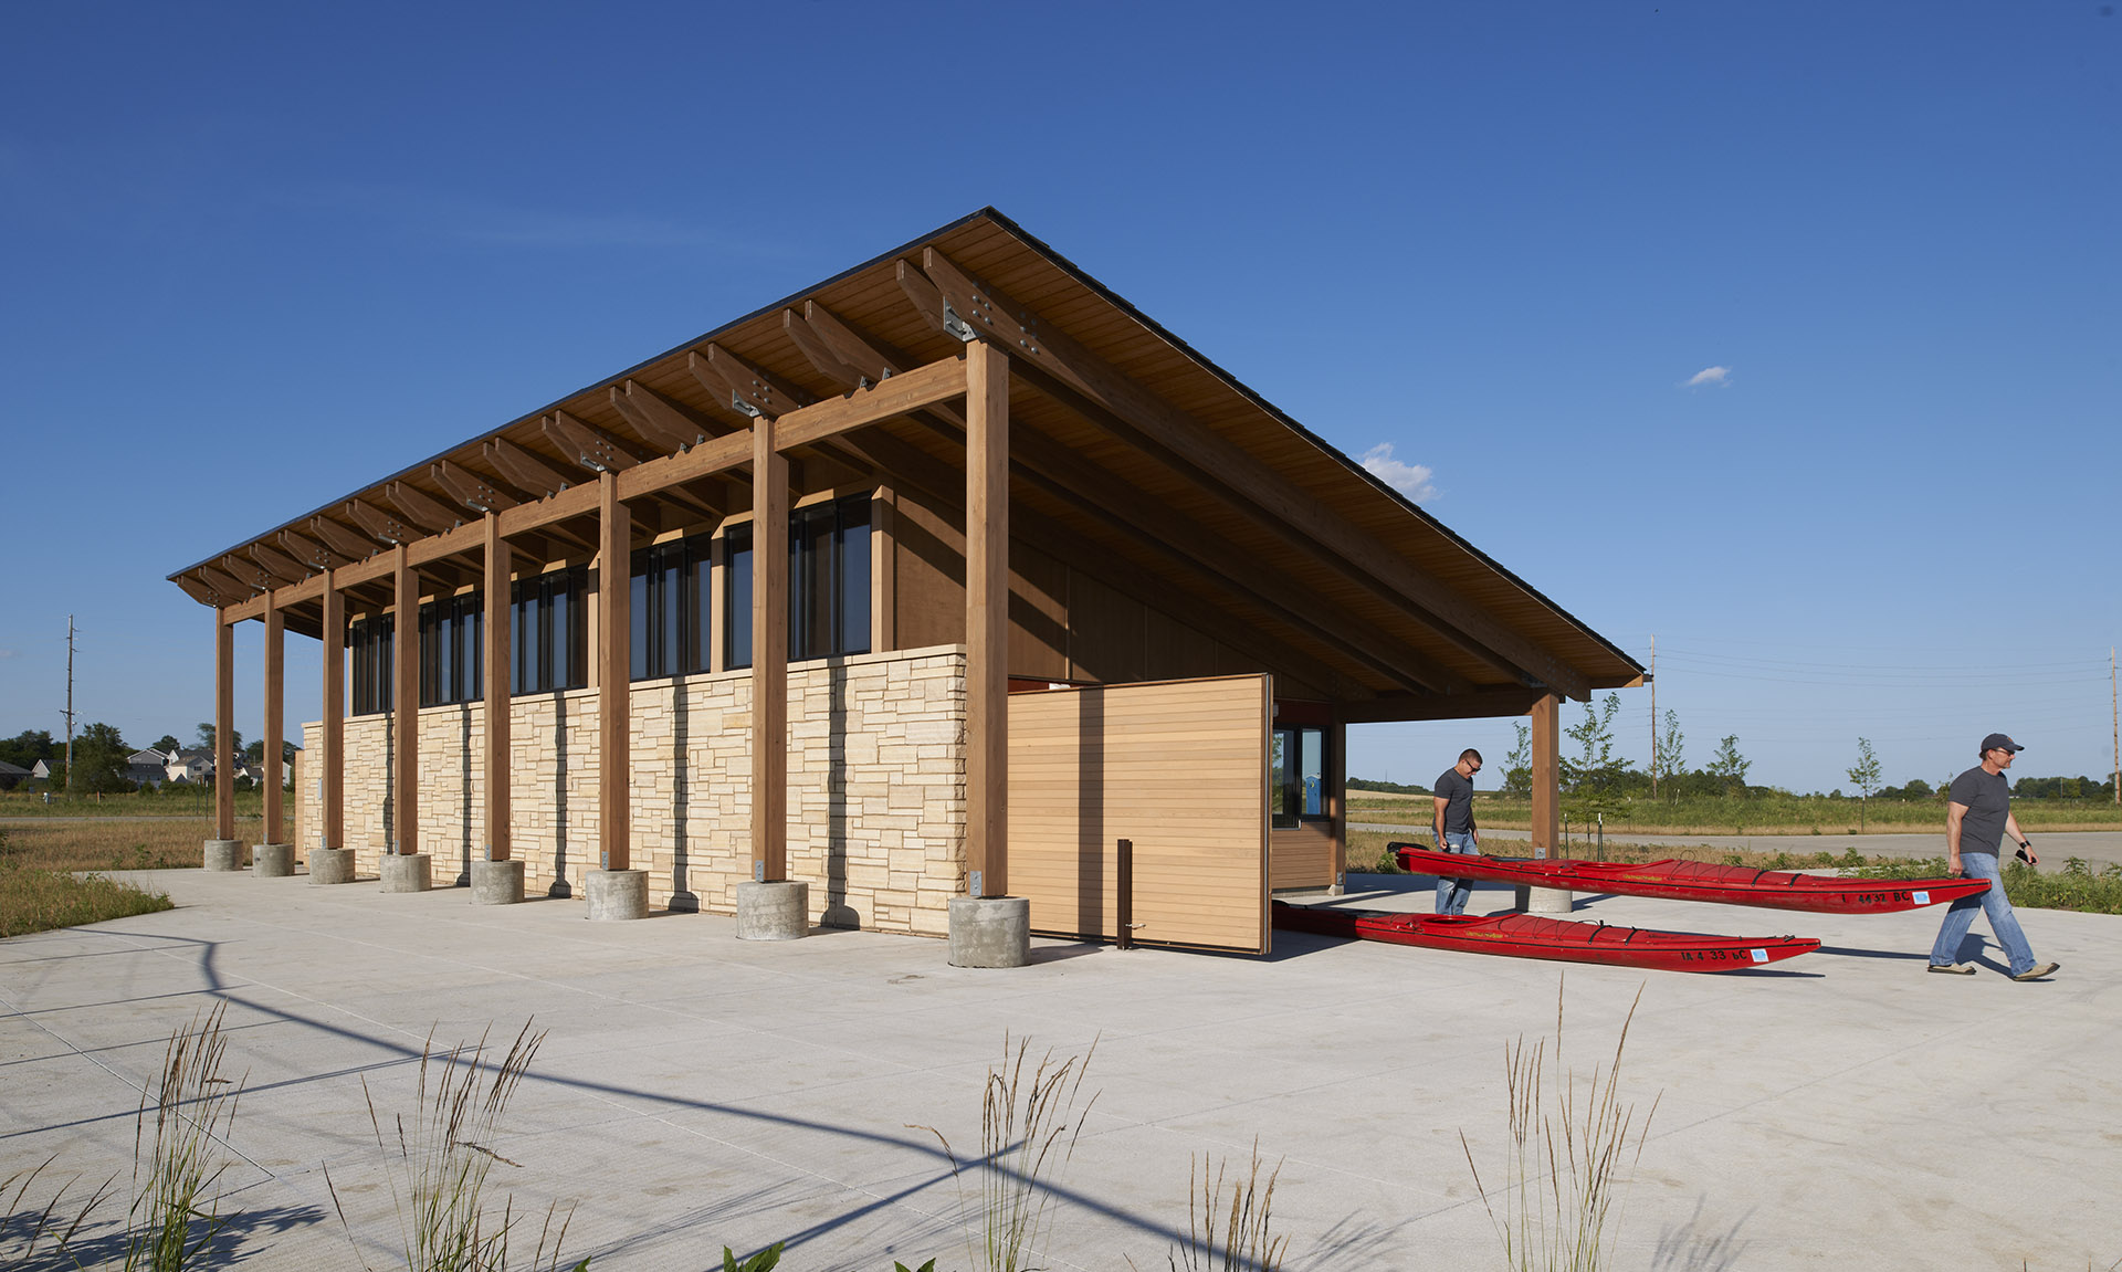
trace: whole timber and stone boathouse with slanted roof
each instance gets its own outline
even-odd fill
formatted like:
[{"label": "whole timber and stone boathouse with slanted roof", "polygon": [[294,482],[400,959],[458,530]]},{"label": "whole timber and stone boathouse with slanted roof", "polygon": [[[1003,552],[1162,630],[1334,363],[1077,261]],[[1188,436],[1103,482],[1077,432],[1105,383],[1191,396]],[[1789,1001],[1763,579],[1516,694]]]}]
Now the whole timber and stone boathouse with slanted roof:
[{"label": "whole timber and stone boathouse with slanted roof", "polygon": [[993,208],[170,578],[223,747],[231,626],[265,754],[325,641],[261,873],[741,934],[1265,951],[1350,724],[1530,716],[1551,845],[1562,699],[1642,675]]}]

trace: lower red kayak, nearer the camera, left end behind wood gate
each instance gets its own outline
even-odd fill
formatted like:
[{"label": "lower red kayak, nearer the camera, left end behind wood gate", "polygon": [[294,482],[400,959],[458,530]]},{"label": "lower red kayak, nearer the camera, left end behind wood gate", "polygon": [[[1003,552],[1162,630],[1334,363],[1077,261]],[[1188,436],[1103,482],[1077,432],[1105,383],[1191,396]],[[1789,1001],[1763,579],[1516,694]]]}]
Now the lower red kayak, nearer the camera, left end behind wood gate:
[{"label": "lower red kayak, nearer the camera, left end behind wood gate", "polygon": [[1534,915],[1411,915],[1373,909],[1320,909],[1275,903],[1275,926],[1322,936],[1356,936],[1392,945],[1426,945],[1504,958],[1600,962],[1662,973],[1723,973],[1782,962],[1821,947],[1810,936],[1704,936],[1613,928]]}]

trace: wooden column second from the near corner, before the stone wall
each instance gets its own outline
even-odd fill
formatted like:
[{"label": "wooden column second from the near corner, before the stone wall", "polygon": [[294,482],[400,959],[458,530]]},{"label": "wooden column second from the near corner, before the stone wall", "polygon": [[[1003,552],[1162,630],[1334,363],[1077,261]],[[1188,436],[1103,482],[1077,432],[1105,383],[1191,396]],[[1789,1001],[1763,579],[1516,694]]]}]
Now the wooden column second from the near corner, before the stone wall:
[{"label": "wooden column second from the near corner, before the stone wall", "polygon": [[751,879],[789,873],[789,461],[751,420]]}]

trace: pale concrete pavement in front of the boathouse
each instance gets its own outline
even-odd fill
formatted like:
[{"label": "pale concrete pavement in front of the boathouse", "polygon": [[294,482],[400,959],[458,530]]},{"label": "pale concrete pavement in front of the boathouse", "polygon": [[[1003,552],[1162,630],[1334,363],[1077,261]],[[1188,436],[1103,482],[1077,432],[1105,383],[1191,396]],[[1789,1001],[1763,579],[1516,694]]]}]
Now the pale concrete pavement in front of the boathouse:
[{"label": "pale concrete pavement in front of the boathouse", "polygon": [[[1460,1136],[1502,1176],[1502,1049],[1551,1034],[1657,1100],[1623,1193],[1617,1268],[2020,1268],[2122,1259],[2122,919],[2027,911],[2050,983],[1923,973],[1937,911],[1789,915],[1596,898],[1583,919],[1802,932],[1774,968],[1647,975],[1275,934],[1271,958],[1036,941],[1033,966],[961,970],[940,941],[825,932],[738,943],[734,919],[586,922],[581,903],[471,907],[467,890],[166,871],[180,909],[0,943],[0,1176],[57,1153],[132,1162],[170,1030],[225,1002],[248,1072],[229,1140],[236,1257],[388,1259],[395,1227],[363,1081],[412,1111],[422,1038],[550,1030],[490,1145],[518,1204],[579,1202],[592,1268],[966,1268],[961,1157],[1004,1038],[1084,1053],[1097,1091],[1057,1176],[1048,1268],[1163,1266],[1188,1164],[1282,1162],[1286,1268],[1500,1261]],[[1479,890],[1475,911],[1507,905]],[[1426,909],[1407,877],[1343,905]],[[1978,932],[1986,932],[1978,924]],[[340,1187],[361,1253],[325,1187]],[[123,1176],[121,1176],[123,1183]]]}]

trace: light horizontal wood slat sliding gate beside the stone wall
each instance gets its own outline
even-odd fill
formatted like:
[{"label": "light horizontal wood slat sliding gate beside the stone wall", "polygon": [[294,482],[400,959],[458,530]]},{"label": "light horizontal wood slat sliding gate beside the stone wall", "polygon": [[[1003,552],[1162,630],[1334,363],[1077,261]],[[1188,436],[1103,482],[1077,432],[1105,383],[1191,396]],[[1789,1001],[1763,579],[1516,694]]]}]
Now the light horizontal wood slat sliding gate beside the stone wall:
[{"label": "light horizontal wood slat sliding gate beside the stone wall", "polygon": [[1267,953],[1273,680],[1227,675],[1010,697],[1010,890],[1031,930]]}]

